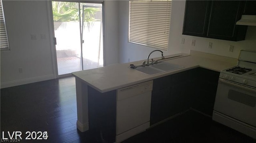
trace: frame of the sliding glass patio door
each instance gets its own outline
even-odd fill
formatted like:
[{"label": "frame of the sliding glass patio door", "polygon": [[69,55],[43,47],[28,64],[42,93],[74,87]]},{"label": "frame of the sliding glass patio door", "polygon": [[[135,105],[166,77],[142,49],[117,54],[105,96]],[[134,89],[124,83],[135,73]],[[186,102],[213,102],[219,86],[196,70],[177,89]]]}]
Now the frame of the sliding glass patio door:
[{"label": "frame of the sliding glass patio door", "polygon": [[[66,76],[72,76],[71,73],[58,75],[58,63],[57,63],[57,55],[56,55],[56,46],[54,44],[54,22],[53,22],[53,14],[52,14],[52,1],[65,1],[65,2],[80,2],[80,3],[95,3],[95,4],[102,4],[102,50],[103,50],[103,66],[105,67],[105,6],[104,1],[97,0],[97,1],[90,1],[90,0],[47,0],[47,14],[48,14],[48,26],[49,26],[49,37],[50,37],[50,47],[51,47],[51,55],[52,55],[52,69],[54,78],[61,78]],[[82,52],[82,51],[81,51]]]}]

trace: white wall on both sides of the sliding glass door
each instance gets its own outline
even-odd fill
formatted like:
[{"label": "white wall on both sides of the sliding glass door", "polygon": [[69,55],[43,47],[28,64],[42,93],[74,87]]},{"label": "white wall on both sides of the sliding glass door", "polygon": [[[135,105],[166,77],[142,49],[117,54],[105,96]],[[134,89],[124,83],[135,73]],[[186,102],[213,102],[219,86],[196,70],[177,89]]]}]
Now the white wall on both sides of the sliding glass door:
[{"label": "white wall on both sides of the sliding glass door", "polygon": [[[3,5],[10,51],[1,51],[1,88],[55,78],[47,2],[4,0]],[[106,65],[118,63],[117,5],[117,1],[105,2]],[[30,34],[36,34],[37,39],[31,40]],[[46,39],[40,39],[40,34]]]}]

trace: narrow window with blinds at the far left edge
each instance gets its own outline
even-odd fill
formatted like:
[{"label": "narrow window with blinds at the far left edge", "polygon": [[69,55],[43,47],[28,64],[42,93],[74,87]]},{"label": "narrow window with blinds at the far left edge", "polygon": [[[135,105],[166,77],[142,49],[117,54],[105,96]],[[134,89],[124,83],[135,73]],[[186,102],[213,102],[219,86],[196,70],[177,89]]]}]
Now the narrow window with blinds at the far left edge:
[{"label": "narrow window with blinds at the far left edge", "polygon": [[0,0],[0,49],[1,51],[9,49],[2,0]]}]

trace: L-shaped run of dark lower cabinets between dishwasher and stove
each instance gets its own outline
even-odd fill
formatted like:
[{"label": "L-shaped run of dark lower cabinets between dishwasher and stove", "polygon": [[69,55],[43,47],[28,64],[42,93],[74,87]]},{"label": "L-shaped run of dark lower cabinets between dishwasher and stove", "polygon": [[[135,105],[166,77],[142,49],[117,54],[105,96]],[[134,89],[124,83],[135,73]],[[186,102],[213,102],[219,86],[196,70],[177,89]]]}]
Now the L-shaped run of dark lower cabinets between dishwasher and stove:
[{"label": "L-shaped run of dark lower cabinets between dishwasher and stove", "polygon": [[196,68],[155,79],[150,125],[190,107],[212,116],[219,74],[220,72]]}]

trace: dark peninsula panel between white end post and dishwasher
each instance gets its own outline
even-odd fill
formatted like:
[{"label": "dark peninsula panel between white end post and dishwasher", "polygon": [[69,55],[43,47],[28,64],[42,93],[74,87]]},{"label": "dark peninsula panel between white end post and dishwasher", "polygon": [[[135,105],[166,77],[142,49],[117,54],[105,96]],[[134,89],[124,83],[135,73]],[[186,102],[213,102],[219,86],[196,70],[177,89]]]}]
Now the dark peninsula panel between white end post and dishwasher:
[{"label": "dark peninsula panel between white end post and dishwasher", "polygon": [[100,93],[88,86],[90,143],[116,141],[116,90]]}]

